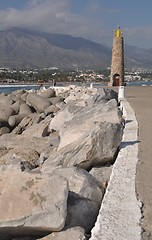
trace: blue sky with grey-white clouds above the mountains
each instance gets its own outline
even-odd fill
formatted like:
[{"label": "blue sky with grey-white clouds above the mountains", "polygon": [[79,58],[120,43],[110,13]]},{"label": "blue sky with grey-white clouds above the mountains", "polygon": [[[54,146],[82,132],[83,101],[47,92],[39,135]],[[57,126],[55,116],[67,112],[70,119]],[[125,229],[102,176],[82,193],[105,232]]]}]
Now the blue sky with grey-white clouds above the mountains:
[{"label": "blue sky with grey-white clouds above the mountains", "polygon": [[128,45],[152,48],[152,0],[0,0],[0,29],[23,27],[112,46],[120,25]]}]

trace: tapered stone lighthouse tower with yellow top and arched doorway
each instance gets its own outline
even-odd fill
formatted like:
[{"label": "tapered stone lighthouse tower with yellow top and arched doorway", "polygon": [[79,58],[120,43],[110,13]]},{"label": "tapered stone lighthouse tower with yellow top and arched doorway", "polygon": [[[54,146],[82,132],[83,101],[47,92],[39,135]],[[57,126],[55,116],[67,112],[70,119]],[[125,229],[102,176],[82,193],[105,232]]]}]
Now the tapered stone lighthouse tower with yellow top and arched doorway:
[{"label": "tapered stone lighthouse tower with yellow top and arched doorway", "polygon": [[112,62],[109,86],[124,86],[124,41],[123,31],[118,26],[114,31]]}]

